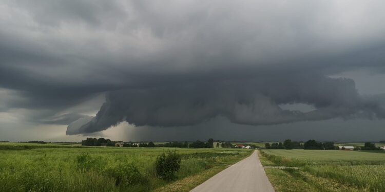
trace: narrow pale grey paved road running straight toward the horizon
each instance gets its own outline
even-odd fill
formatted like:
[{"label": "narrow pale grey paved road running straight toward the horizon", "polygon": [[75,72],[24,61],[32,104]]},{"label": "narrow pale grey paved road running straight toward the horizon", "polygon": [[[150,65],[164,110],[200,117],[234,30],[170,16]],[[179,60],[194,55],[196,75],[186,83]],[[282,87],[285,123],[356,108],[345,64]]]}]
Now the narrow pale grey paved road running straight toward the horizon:
[{"label": "narrow pale grey paved road running straight toward the horizon", "polygon": [[240,191],[269,192],[274,191],[268,181],[257,151],[242,161],[222,170],[190,192]]}]

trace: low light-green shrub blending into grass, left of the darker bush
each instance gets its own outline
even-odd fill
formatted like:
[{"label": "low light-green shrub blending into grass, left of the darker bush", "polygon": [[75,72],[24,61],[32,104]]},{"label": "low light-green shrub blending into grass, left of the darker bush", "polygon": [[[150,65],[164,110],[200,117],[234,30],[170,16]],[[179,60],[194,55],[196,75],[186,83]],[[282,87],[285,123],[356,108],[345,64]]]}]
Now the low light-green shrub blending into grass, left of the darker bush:
[{"label": "low light-green shrub blending into grass, left of the darker bush", "polygon": [[121,183],[126,185],[143,183],[146,180],[139,169],[132,163],[119,163],[118,166],[107,169],[107,175],[115,179],[115,185]]}]

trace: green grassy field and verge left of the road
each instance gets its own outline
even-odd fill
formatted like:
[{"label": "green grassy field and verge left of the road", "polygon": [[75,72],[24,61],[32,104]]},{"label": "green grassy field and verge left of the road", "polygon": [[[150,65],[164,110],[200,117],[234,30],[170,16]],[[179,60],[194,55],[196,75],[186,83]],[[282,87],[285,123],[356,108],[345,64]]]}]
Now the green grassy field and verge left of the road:
[{"label": "green grassy field and verge left of the road", "polygon": [[[155,161],[169,150],[182,161],[175,179],[165,181]],[[0,191],[189,191],[251,152],[0,142]],[[125,174],[134,178],[117,177]]]}]

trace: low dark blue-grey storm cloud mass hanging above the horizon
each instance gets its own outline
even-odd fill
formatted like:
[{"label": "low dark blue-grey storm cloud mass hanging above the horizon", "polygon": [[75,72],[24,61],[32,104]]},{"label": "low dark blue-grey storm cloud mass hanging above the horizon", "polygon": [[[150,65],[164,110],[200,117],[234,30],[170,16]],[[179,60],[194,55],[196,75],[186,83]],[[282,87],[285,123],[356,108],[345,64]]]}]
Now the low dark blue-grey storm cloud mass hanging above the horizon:
[{"label": "low dark blue-grey storm cloud mass hanging above the horizon", "polygon": [[[378,102],[359,97],[351,79],[317,74],[281,75],[192,84],[176,82],[166,87],[113,91],[97,116],[81,125],[78,132],[71,133],[103,131],[122,121],[136,126],[196,125],[217,116],[251,125],[336,117],[385,117]],[[306,103],[317,110],[307,113],[282,110],[278,106],[282,103]],[[74,124],[70,126],[76,130]]]}]

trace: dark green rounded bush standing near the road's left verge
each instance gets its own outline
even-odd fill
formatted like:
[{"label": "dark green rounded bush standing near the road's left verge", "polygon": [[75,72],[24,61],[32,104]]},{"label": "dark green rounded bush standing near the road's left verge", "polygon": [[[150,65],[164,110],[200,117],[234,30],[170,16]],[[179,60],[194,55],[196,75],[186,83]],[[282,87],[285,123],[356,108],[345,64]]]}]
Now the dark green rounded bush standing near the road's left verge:
[{"label": "dark green rounded bush standing near the road's left verge", "polygon": [[181,167],[181,156],[175,151],[165,155],[161,154],[155,162],[157,175],[164,180],[172,180],[175,178],[175,173]]}]

